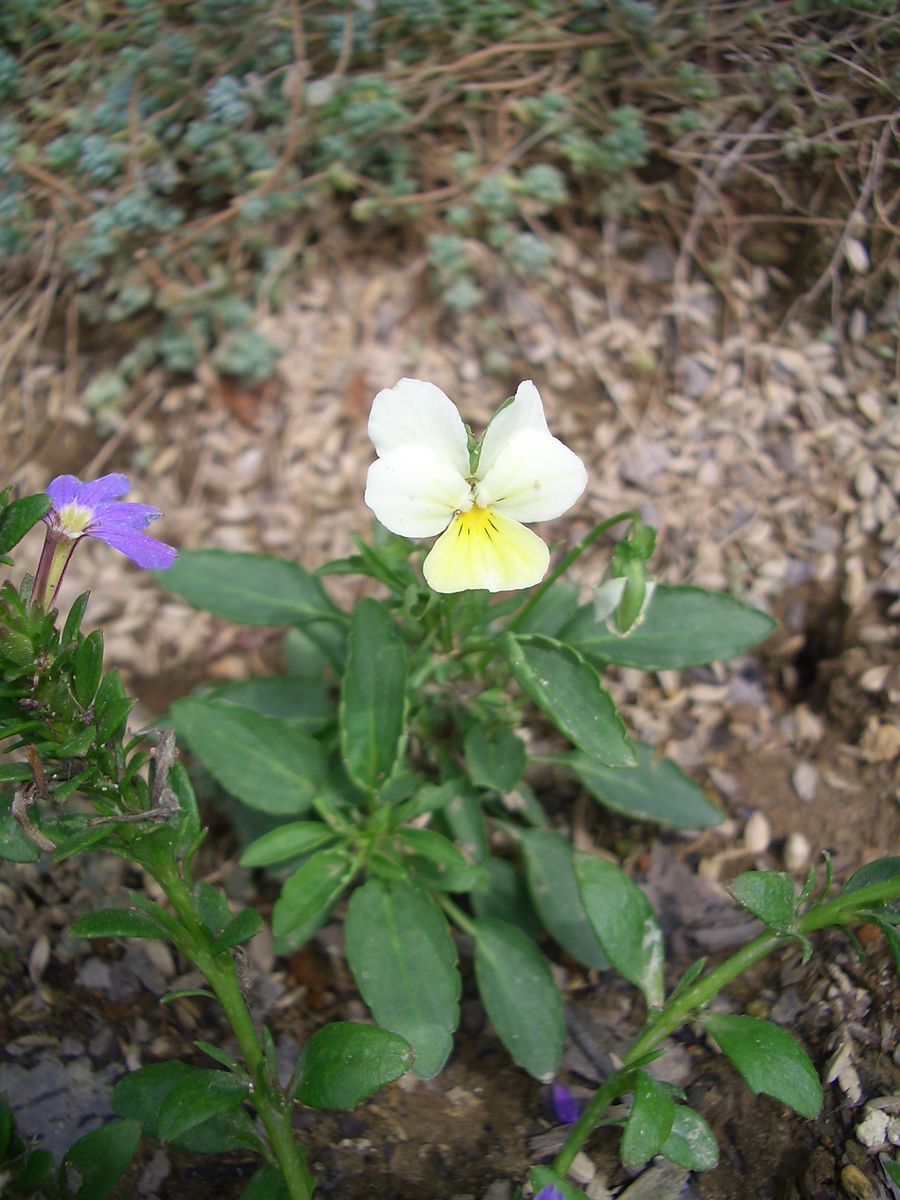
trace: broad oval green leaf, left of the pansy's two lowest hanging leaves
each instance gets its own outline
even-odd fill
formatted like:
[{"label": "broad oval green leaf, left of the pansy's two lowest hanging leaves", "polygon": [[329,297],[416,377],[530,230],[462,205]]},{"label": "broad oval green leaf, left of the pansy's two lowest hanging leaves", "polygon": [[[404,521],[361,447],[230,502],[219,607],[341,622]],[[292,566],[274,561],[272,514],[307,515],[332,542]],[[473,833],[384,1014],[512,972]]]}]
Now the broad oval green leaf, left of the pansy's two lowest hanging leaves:
[{"label": "broad oval green leaf, left of the pansy's two lowest hanging leaves", "polygon": [[347,960],[376,1020],[413,1046],[416,1075],[437,1075],[452,1049],[461,986],[443,912],[408,883],[370,880],[350,896],[344,931]]}]

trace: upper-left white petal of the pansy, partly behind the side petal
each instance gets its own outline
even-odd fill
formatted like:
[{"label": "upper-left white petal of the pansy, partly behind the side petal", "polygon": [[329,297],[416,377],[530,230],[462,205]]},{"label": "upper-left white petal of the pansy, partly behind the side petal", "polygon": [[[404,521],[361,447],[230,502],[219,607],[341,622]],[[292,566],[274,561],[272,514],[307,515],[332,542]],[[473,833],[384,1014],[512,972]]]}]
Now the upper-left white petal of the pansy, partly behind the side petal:
[{"label": "upper-left white petal of the pansy, partly behind the side petal", "polygon": [[368,436],[379,458],[401,446],[427,446],[461,475],[469,473],[466,426],[456,404],[424,379],[401,379],[372,401]]}]

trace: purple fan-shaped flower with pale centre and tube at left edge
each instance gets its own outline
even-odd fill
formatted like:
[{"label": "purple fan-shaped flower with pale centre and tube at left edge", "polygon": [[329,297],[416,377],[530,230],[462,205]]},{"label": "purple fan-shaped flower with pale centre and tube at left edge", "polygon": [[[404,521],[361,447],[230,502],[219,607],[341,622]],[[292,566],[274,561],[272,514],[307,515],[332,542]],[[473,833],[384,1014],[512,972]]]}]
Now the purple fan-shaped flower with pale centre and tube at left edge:
[{"label": "purple fan-shaped flower with pale centre and tube at left edge", "polygon": [[47,526],[34,595],[53,604],[76,544],[97,538],[126,554],[138,566],[162,570],[172,566],[178,551],[145,533],[146,526],[162,516],[149,504],[121,500],[130,488],[125,475],[102,475],[83,484],[74,475],[58,475],[47,486],[53,506],[43,517]]}]

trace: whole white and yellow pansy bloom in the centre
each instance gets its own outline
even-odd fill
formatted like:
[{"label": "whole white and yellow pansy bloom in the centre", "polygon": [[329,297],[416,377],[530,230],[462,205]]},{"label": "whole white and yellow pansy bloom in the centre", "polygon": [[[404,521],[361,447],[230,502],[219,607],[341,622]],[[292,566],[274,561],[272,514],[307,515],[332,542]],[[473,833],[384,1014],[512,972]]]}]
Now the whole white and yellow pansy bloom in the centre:
[{"label": "whole white and yellow pansy bloom in the centre", "polygon": [[366,504],[391,533],[442,536],[425,559],[436,592],[505,592],[539,583],[550,551],[526,523],[551,521],[578,499],[587,472],[547,428],[530,379],[497,413],[480,443],[456,404],[422,379],[401,379],[372,403]]}]

